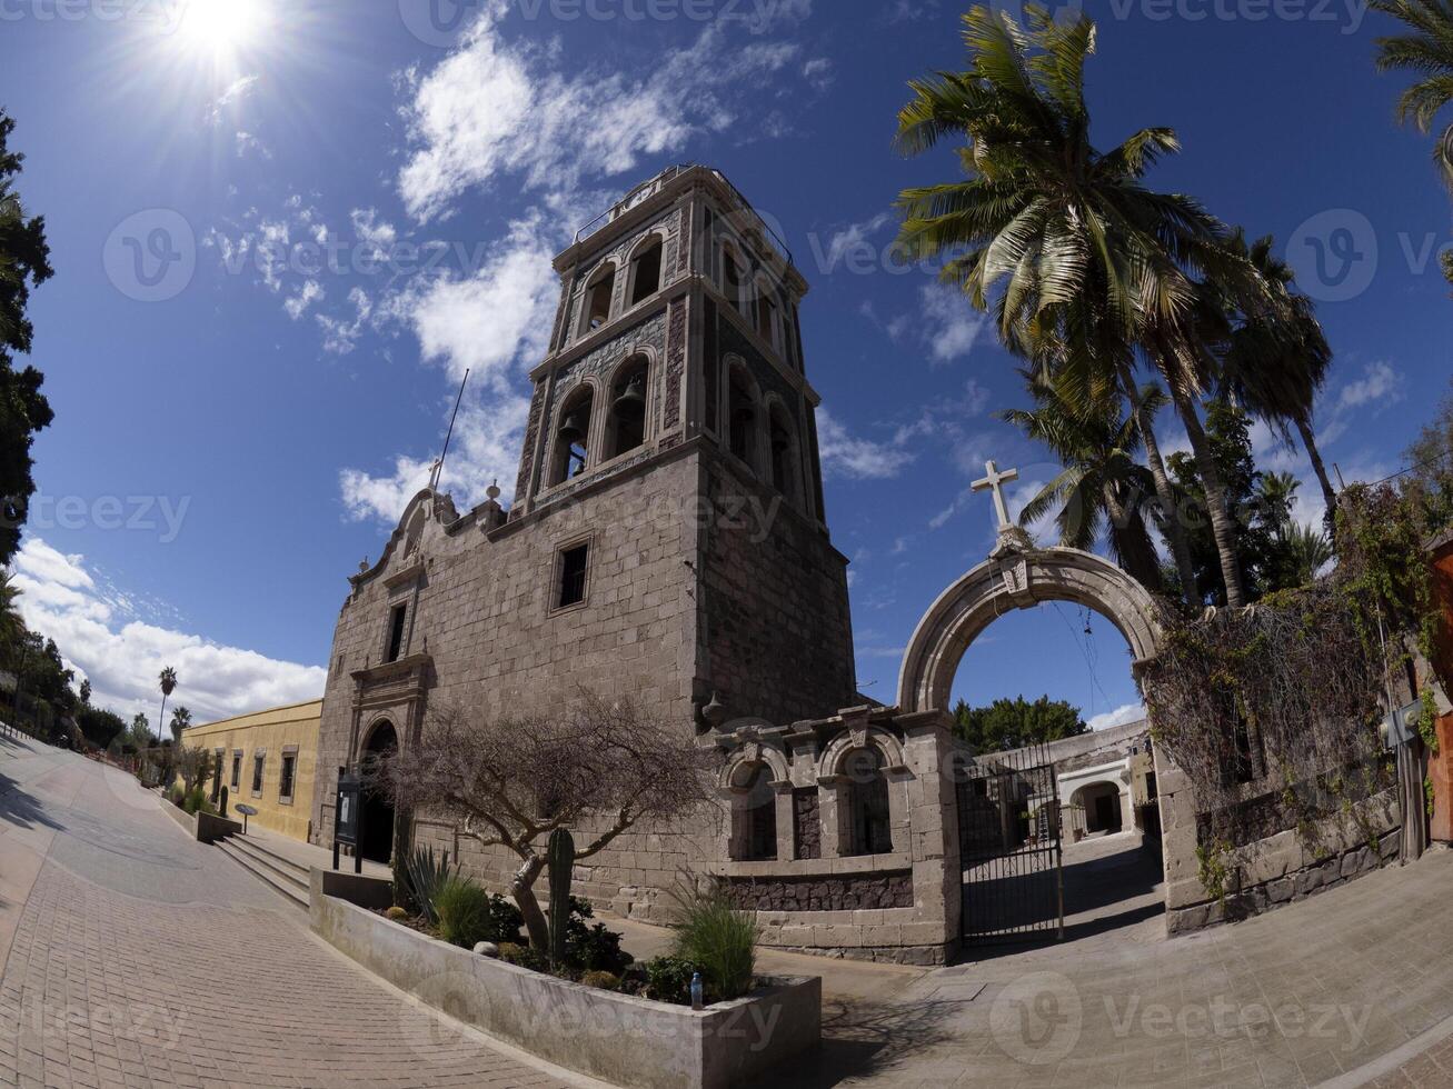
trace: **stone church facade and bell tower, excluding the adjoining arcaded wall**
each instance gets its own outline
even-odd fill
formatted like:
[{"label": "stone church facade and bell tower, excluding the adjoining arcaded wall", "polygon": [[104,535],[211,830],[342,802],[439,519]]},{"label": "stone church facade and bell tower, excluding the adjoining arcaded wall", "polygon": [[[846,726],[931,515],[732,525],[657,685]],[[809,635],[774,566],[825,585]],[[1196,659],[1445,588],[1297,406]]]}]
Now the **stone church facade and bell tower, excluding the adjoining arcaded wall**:
[{"label": "stone church facade and bell tower, excluding the adjoining arcaded wall", "polygon": [[[641,186],[556,258],[561,303],[532,372],[513,504],[494,492],[461,514],[426,489],[349,579],[315,842],[331,842],[337,768],[385,725],[408,745],[430,706],[526,716],[588,687],[692,736],[713,700],[766,722],[854,703],[846,559],[824,523],[818,395],[796,334],[806,283],[769,235],[721,174],[690,167]],[[427,813],[410,831],[495,887],[513,870]],[[577,878],[604,906],[654,918],[660,892],[716,842],[711,822],[632,829]]]}]

